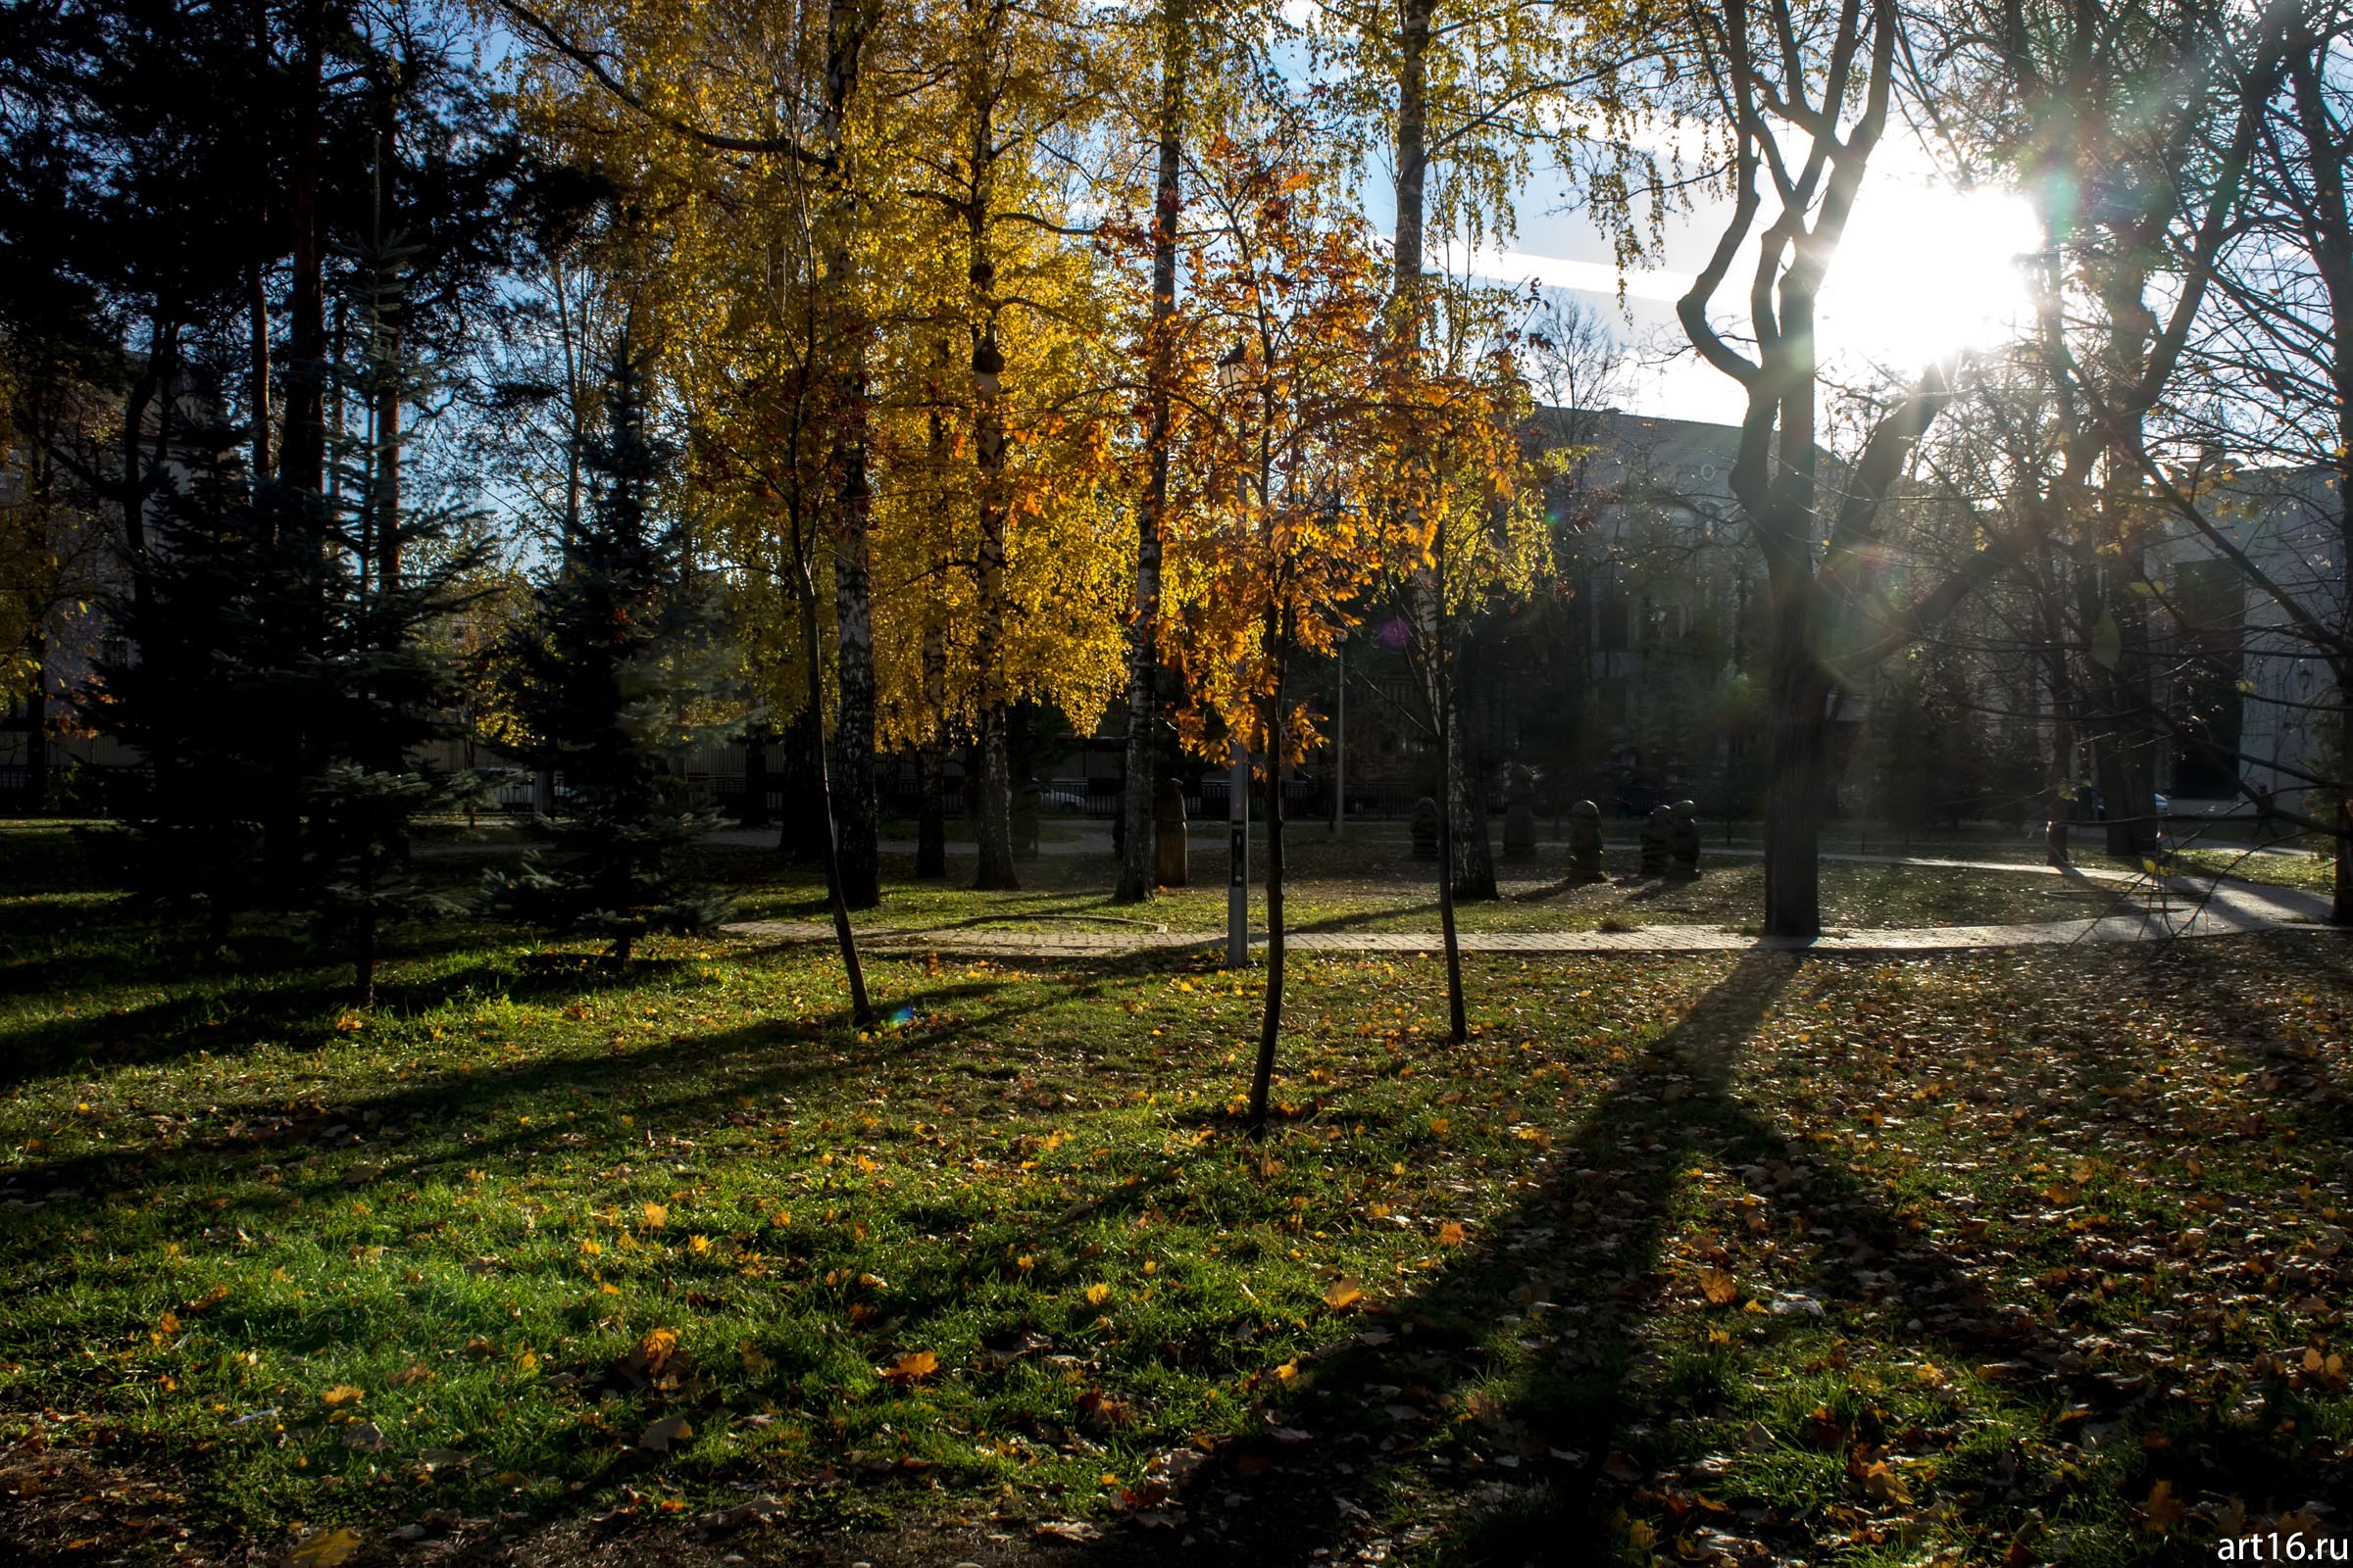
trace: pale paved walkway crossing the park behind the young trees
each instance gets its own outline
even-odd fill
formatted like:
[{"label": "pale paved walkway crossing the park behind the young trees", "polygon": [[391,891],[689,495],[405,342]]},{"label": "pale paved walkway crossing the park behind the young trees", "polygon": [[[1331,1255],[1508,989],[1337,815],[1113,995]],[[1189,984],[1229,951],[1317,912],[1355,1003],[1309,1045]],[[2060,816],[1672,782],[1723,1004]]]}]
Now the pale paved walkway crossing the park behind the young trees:
[{"label": "pale paved walkway crossing the park behind the young trees", "polygon": [[[1840,856],[1847,858],[1847,856]],[[1873,856],[1875,860],[1878,856]],[[2042,865],[1969,860],[1894,860],[1897,865],[1977,865],[1984,870],[2059,875]],[[2129,872],[2082,872],[2099,882],[2141,882]],[[2127,912],[2092,919],[2052,919],[2009,926],[1913,926],[1899,931],[1833,931],[1817,940],[1758,938],[1722,926],[1640,926],[1635,931],[1464,931],[1464,952],[1969,952],[1979,947],[2073,947],[2078,943],[2148,943],[2181,936],[2240,936],[2247,931],[2325,929],[2329,900],[2301,889],[2254,882],[2165,877],[2160,896]],[[819,922],[748,919],[727,926],[732,936],[769,943],[831,943],[833,926]],[[969,926],[864,926],[859,943],[873,950],[915,950],[965,957],[1122,957],[1134,952],[1224,952],[1224,931],[984,931]],[[1266,945],[1264,933],[1252,936]],[[1294,952],[1438,952],[1438,931],[1301,931],[1287,940]]]}]

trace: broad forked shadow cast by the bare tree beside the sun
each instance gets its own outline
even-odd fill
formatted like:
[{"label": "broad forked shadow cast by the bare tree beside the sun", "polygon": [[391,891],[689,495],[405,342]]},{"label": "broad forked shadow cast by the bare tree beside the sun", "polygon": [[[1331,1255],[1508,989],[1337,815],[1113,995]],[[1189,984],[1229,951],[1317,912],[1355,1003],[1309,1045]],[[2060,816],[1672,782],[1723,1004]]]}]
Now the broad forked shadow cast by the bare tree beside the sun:
[{"label": "broad forked shadow cast by the bare tree beside the sun", "polygon": [[[1381,1519],[1393,1490],[1447,1500],[1431,1509],[1440,1523],[1419,1521],[1419,1535],[1435,1537],[1445,1561],[1577,1561],[1562,1552],[1605,1540],[1612,1490],[1626,1490],[1626,1460],[1612,1455],[1645,1413],[1631,1380],[1675,1187],[1694,1157],[1729,1166],[1795,1161],[1793,1187],[1777,1197],[1812,1220],[1800,1222],[1800,1237],[1814,1225],[1831,1229],[1828,1244],[1800,1241],[1817,1258],[1817,1298],[1878,1291],[1873,1300],[1929,1319],[1922,1342],[2014,1352],[2017,1335],[2031,1331],[1979,1316],[1974,1284],[1922,1248],[1868,1182],[1819,1164],[1819,1150],[1793,1152],[1781,1128],[1739,1100],[1741,1048],[1805,961],[1741,957],[1591,1105],[1522,1204],[1431,1284],[1388,1302],[1362,1333],[1301,1356],[1306,1392],[1271,1403],[1271,1436],[1228,1443],[1179,1495],[1188,1528],[1214,1544],[1184,1547],[1165,1530],[1129,1528],[1075,1561],[1344,1561],[1377,1528],[1400,1523]],[[1864,1267],[1882,1274],[1861,1281]],[[1555,1335],[1555,1359],[1501,1399],[1468,1401],[1489,1375],[1482,1338],[1499,1326]],[[1464,1418],[1494,1434],[1511,1462],[1487,1465],[1464,1448],[1457,1458],[1440,1453]],[[1482,1486],[1499,1486],[1508,1502],[1457,1507]]]}]

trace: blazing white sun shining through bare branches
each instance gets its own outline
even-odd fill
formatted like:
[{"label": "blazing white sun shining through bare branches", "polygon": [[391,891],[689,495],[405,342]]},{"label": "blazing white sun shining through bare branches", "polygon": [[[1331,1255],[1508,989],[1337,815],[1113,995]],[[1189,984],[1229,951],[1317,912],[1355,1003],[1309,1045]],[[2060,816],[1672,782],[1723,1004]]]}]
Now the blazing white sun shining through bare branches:
[{"label": "blazing white sun shining through bare branches", "polygon": [[2031,317],[2019,259],[2040,244],[2014,190],[1868,179],[1821,287],[1824,360],[1918,371],[2017,334]]}]

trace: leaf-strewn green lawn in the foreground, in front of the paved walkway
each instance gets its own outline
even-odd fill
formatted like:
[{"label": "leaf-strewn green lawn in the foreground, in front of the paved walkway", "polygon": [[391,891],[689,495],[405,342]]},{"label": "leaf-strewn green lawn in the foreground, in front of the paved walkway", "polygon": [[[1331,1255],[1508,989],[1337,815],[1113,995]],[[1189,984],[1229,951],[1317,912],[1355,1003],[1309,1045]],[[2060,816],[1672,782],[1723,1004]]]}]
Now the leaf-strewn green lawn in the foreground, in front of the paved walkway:
[{"label": "leaf-strewn green lawn in the foreground, in front of the paved walkway", "polygon": [[2353,1500],[2329,933],[1473,957],[1466,1046],[1315,957],[1252,1143],[1257,973],[878,957],[861,1037],[821,952],[461,929],[358,1016],[56,832],[0,886],[7,1561],[2134,1563]]}]

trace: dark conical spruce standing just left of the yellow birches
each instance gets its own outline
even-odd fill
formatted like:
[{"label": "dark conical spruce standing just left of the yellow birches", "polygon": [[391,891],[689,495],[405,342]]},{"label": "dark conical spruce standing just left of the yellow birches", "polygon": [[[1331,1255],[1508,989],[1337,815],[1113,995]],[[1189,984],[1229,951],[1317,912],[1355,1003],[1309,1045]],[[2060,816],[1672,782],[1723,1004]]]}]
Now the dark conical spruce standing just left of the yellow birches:
[{"label": "dark conical spruce standing just left of the yellow birches", "polygon": [[[687,799],[671,755],[727,726],[713,602],[654,498],[671,454],[647,430],[645,369],[628,334],[607,371],[605,435],[584,442],[591,505],[539,588],[518,649],[518,712],[536,762],[562,776],[551,858],[492,872],[492,905],[612,940],[699,931],[722,903],[687,886],[685,851],[718,813]],[[741,715],[734,715],[741,719]]]}]

